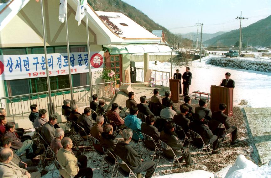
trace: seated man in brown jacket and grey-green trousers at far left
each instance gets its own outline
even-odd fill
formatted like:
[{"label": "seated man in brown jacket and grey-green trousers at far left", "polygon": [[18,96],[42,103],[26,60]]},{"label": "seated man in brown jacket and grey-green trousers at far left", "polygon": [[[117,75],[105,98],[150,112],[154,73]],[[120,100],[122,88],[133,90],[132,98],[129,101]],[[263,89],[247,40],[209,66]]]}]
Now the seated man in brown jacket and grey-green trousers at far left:
[{"label": "seated man in brown jacket and grey-green trousers at far left", "polygon": [[13,149],[14,153],[18,156],[23,154],[25,150],[27,150],[27,157],[34,158],[34,152],[33,152],[33,141],[32,140],[25,140],[24,142],[21,142],[19,138],[14,133],[15,130],[15,123],[14,122],[7,122],[6,124],[6,131],[3,134],[4,137],[10,137],[12,138],[11,148]]}]

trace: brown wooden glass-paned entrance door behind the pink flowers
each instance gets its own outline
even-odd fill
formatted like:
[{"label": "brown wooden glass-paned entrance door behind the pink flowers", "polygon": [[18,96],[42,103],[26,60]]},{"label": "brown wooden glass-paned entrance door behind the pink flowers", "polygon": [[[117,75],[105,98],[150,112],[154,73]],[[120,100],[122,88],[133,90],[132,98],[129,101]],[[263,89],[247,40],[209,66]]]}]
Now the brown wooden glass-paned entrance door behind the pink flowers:
[{"label": "brown wooden glass-paned entrance door behind the pink flowers", "polygon": [[121,55],[109,55],[104,53],[106,58],[106,67],[115,71],[116,75],[116,88],[119,88],[120,82],[122,82],[122,59]]}]

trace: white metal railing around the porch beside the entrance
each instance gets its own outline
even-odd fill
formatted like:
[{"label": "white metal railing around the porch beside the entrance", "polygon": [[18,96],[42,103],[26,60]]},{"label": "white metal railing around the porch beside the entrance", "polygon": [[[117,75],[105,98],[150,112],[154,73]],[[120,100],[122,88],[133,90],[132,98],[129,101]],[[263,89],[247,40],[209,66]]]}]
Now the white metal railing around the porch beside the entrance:
[{"label": "white metal railing around the porch beside the entrance", "polygon": [[[153,79],[155,85],[161,85],[169,87],[170,72],[152,70],[151,79]],[[144,82],[144,69],[136,67],[136,81]]]}]

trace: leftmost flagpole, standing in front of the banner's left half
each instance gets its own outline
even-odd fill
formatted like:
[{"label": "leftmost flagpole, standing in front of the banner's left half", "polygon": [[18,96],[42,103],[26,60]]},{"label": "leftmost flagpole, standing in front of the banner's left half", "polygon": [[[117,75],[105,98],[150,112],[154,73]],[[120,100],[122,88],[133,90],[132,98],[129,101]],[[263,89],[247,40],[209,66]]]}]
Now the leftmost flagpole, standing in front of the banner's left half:
[{"label": "leftmost flagpole, standing in front of the banner's left half", "polygon": [[49,115],[55,114],[54,103],[52,103],[51,98],[51,87],[50,87],[50,78],[49,78],[49,71],[48,71],[48,58],[47,58],[47,49],[46,49],[46,37],[45,37],[45,27],[44,27],[44,15],[43,15],[43,5],[42,0],[40,1],[41,6],[41,20],[42,20],[42,30],[43,30],[43,43],[44,43],[44,55],[45,55],[45,64],[46,64],[46,78],[47,78],[47,87],[49,93],[49,103],[48,103],[48,112]]}]

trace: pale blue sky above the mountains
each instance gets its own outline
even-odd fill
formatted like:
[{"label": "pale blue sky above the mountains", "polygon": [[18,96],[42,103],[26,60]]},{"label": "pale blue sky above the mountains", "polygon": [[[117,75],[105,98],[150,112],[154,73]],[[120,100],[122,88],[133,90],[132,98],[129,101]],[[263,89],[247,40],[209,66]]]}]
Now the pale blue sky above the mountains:
[{"label": "pale blue sky above the mountains", "polygon": [[[196,32],[196,23],[203,24],[203,33],[239,29],[271,15],[271,0],[122,0],[141,10],[154,22],[173,33]],[[154,29],[155,30],[155,29]],[[201,27],[199,27],[199,32]]]}]

